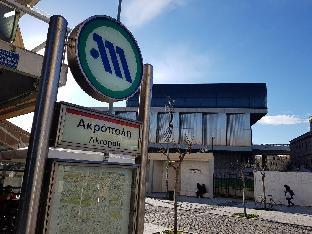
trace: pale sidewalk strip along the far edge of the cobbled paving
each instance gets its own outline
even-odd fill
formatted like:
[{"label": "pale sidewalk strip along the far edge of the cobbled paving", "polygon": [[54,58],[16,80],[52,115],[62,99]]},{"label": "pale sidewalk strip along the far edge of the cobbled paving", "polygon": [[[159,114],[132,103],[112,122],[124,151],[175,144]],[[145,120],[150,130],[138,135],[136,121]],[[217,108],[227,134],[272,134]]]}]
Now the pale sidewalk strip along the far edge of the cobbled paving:
[{"label": "pale sidewalk strip along the far edge of the cobbled paving", "polygon": [[[146,198],[146,203],[156,207],[173,208],[173,201],[164,199]],[[195,198],[195,197],[179,197],[179,212],[204,209],[204,213],[231,217],[234,213],[242,213],[242,200],[231,198]],[[276,223],[294,224],[312,227],[312,207],[277,205],[274,210],[254,209],[253,201],[246,201],[247,213],[259,215],[260,220],[266,220]],[[165,230],[165,227],[146,223],[145,233],[153,233],[153,231]]]}]

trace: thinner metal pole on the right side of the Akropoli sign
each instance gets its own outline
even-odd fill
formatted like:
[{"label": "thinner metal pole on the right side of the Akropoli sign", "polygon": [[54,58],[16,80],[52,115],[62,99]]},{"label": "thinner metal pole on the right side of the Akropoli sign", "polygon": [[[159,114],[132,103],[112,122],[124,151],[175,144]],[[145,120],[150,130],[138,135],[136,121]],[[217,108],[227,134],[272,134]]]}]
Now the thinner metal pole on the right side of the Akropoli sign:
[{"label": "thinner metal pole on the right side of the Akropoli sign", "polygon": [[137,232],[142,234],[144,231],[144,213],[145,213],[145,184],[146,184],[146,166],[148,157],[148,134],[149,134],[149,112],[151,107],[153,87],[153,66],[144,64],[143,82],[140,90],[139,121],[143,122],[143,133],[141,143],[140,181],[138,195],[138,213],[137,213]]}]

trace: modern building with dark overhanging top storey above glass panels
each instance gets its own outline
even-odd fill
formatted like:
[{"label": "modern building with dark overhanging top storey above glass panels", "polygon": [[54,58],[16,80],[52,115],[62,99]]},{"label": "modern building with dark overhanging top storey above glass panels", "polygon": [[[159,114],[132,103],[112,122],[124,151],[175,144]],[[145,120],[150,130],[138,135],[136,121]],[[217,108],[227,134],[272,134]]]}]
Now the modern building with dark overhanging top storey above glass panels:
[{"label": "modern building with dark overhanging top storey above glass panels", "polygon": [[[266,85],[155,84],[152,95],[147,191],[166,191],[167,161],[160,151],[183,149],[186,138],[192,141],[192,154],[181,166],[180,194],[194,196],[196,183],[206,185],[209,197],[232,191],[216,191],[216,185],[222,187],[225,179],[237,180],[237,173],[230,175],[230,168],[252,157],[251,126],[267,113]],[[168,113],[168,100],[174,101],[172,114]],[[115,108],[115,114],[136,119],[138,105],[139,96],[134,95],[127,107]],[[174,172],[170,169],[168,177],[168,190],[173,190]]]}]

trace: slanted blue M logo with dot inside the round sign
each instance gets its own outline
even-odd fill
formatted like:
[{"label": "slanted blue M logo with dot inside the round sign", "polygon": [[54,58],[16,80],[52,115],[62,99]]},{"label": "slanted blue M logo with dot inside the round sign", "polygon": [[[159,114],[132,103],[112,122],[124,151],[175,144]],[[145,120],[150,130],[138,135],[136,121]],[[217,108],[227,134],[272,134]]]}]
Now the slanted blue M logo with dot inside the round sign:
[{"label": "slanted blue M logo with dot inside the round sign", "polygon": [[[108,72],[110,74],[113,74],[114,72],[115,75],[120,79],[125,78],[126,81],[132,83],[124,50],[119,46],[115,46],[112,42],[105,40],[105,38],[101,37],[97,33],[93,33],[92,37],[93,40],[96,42],[98,48],[92,48],[90,50],[91,56],[94,59],[101,59],[105,72]],[[121,73],[117,56],[119,57],[119,60],[121,62],[123,74],[125,77],[123,77],[123,74]],[[113,64],[114,70],[110,66],[109,58],[111,63]]]}]

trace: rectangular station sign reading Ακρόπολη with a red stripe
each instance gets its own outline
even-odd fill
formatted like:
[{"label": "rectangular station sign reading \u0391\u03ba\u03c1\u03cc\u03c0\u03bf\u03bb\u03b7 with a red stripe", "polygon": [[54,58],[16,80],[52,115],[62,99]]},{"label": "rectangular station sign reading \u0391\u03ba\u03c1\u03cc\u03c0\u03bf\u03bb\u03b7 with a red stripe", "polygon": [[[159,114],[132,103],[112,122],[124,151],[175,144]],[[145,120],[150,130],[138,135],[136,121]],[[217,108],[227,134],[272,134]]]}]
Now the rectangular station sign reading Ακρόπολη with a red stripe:
[{"label": "rectangular station sign reading \u0391\u03ba\u03c1\u03cc\u03c0\u03bf\u03bb\u03b7 with a red stripe", "polygon": [[59,103],[55,147],[137,155],[141,124]]}]

